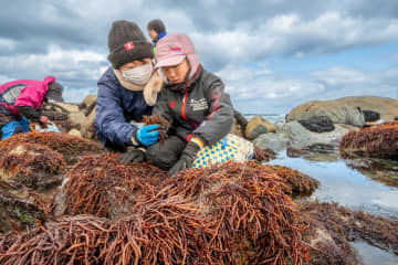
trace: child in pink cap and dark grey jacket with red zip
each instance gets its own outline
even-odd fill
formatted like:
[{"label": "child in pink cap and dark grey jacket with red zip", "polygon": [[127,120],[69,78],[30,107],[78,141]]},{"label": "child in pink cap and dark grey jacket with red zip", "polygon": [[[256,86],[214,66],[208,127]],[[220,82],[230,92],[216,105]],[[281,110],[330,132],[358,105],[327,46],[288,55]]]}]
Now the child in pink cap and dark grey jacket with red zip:
[{"label": "child in pink cap and dark grey jacket with red zip", "polygon": [[231,130],[233,107],[222,81],[199,62],[186,34],[168,34],[156,45],[156,66],[166,86],[153,115],[171,121],[165,144],[150,146],[146,156],[174,174],[190,168],[203,146],[212,146]]}]

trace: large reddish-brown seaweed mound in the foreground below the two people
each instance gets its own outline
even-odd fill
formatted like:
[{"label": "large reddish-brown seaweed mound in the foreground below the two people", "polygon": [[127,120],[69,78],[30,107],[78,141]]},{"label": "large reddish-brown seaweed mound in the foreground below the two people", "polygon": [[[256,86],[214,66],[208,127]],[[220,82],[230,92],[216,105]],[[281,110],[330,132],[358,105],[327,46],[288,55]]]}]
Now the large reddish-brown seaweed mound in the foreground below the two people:
[{"label": "large reddish-brown seaweed mound in the foreground below the two people", "polygon": [[1,264],[308,262],[307,225],[266,166],[228,162],[166,177],[109,155],[85,157],[67,176],[67,211],[91,215],[0,235]]}]

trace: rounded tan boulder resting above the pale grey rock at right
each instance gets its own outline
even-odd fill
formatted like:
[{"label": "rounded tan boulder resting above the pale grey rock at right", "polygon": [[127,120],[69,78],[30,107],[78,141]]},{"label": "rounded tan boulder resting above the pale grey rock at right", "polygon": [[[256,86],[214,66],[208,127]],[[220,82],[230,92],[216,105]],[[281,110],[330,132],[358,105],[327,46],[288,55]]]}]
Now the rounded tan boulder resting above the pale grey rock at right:
[{"label": "rounded tan boulder resting above the pale grey rock at right", "polygon": [[311,119],[326,116],[334,124],[345,124],[356,127],[365,125],[365,117],[359,107],[343,104],[336,100],[314,100],[292,109],[286,116],[286,123],[301,119]]}]

